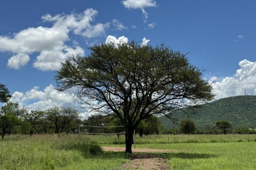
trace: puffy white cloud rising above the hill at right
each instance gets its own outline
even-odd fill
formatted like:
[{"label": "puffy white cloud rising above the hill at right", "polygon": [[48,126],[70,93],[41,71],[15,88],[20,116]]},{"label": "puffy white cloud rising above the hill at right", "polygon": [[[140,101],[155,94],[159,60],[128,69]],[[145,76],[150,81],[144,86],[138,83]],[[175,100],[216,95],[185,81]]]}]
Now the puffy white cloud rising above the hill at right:
[{"label": "puffy white cloud rising above the hill at right", "polygon": [[239,62],[239,66],[240,69],[236,70],[233,77],[210,78],[210,81],[215,81],[213,82],[215,99],[244,95],[244,87],[248,95],[256,93],[256,62],[244,59]]}]

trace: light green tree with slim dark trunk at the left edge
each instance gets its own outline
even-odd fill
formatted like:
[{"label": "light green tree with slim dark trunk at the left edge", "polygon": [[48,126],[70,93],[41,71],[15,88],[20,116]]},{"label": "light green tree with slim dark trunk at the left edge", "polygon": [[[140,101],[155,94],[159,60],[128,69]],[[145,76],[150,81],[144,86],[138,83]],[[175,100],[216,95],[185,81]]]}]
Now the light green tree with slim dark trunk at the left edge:
[{"label": "light green tree with slim dark trunk at the left edge", "polygon": [[0,128],[2,129],[2,139],[7,128],[12,128],[21,121],[21,117],[28,112],[25,107],[20,107],[18,103],[9,102],[0,108]]}]

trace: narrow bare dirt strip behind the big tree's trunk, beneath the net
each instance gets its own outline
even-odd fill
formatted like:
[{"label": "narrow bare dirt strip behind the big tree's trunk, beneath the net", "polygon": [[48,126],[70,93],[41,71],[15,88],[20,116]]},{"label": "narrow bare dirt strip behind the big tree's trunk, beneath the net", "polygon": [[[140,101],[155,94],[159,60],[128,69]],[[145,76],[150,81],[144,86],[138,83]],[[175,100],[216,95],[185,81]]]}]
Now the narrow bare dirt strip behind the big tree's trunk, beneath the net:
[{"label": "narrow bare dirt strip behind the big tree's trunk, beneath the net", "polygon": [[[125,148],[121,147],[102,147],[104,151],[115,151],[115,152],[124,152]],[[150,148],[132,148],[132,152],[180,152],[179,150],[170,150],[170,149],[150,149]]]}]

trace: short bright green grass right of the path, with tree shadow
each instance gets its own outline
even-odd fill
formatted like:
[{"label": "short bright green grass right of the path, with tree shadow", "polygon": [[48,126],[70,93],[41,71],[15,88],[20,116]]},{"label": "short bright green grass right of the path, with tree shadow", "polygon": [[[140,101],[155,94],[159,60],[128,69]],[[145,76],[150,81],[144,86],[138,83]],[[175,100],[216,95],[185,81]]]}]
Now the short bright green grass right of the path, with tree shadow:
[{"label": "short bright green grass right of the path, with tree shadow", "polygon": [[[124,145],[104,145],[124,147]],[[256,142],[136,144],[137,148],[174,149],[180,152],[158,153],[172,170],[253,170],[256,169]]]}]

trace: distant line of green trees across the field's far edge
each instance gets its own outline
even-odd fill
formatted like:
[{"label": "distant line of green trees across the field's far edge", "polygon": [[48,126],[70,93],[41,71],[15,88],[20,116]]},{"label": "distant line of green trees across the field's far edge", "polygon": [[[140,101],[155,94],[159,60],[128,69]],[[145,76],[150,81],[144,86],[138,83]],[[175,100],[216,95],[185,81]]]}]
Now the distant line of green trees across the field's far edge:
[{"label": "distant line of green trees across the field's far edge", "polygon": [[[120,119],[104,115],[91,115],[82,120],[79,112],[71,107],[52,106],[49,109],[38,111],[27,107],[21,107],[18,103],[10,102],[11,93],[7,87],[0,84],[0,133],[2,139],[5,134],[42,134],[42,133],[78,133],[79,125],[87,126],[122,126]],[[123,127],[96,128],[83,127],[83,132],[87,133],[117,133],[119,138]],[[195,121],[192,119],[182,119],[178,127],[166,129],[161,124],[159,117],[151,115],[142,120],[136,133],[140,137],[151,134],[256,134],[256,130],[249,127],[232,128],[232,123],[227,120],[215,122],[215,126],[206,126],[196,129]]]}]

